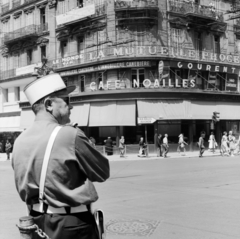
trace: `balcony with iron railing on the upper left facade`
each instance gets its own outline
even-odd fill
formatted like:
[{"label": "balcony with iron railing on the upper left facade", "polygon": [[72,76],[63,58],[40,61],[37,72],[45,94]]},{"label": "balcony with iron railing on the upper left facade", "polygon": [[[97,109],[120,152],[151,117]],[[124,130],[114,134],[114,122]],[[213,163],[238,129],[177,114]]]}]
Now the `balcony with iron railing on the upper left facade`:
[{"label": "balcony with iron railing on the upper left facade", "polygon": [[22,39],[37,37],[48,30],[47,23],[42,25],[29,25],[4,35],[4,44],[9,44]]}]

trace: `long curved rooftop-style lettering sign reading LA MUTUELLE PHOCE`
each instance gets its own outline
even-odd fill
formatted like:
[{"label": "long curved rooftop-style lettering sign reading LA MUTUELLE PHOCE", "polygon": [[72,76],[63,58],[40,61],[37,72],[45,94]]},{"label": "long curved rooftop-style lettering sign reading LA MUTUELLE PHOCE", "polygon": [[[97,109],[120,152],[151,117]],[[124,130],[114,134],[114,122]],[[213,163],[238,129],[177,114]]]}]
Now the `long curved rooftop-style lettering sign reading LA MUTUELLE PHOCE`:
[{"label": "long curved rooftop-style lettering sign reading LA MUTUELLE PHOCE", "polygon": [[104,59],[116,59],[121,57],[170,57],[179,59],[196,60],[200,62],[216,62],[226,64],[239,64],[239,55],[216,54],[207,51],[195,51],[189,48],[174,48],[161,45],[146,46],[107,46],[105,49],[85,49],[84,53],[59,58],[52,61],[56,68],[68,67],[71,65],[79,65],[87,62],[94,62]]}]

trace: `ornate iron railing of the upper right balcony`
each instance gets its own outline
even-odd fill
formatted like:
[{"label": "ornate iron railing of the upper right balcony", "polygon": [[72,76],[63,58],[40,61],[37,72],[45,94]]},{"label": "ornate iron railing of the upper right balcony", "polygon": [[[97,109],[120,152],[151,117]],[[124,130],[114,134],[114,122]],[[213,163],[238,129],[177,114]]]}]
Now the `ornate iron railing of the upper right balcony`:
[{"label": "ornate iron railing of the upper right balcony", "polygon": [[202,17],[213,18],[217,21],[224,21],[223,12],[218,11],[211,3],[208,6],[192,2],[168,0],[169,11],[180,14],[195,14]]}]

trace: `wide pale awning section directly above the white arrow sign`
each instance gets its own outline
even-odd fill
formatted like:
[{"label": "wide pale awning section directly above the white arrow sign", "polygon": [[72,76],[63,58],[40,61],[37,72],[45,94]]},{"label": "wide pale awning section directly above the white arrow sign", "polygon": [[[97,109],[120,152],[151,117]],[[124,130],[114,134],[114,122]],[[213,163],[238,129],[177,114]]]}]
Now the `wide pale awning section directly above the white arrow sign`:
[{"label": "wide pale awning section directly above the white arrow sign", "polygon": [[138,100],[138,117],[154,119],[189,119],[191,102],[185,100]]}]

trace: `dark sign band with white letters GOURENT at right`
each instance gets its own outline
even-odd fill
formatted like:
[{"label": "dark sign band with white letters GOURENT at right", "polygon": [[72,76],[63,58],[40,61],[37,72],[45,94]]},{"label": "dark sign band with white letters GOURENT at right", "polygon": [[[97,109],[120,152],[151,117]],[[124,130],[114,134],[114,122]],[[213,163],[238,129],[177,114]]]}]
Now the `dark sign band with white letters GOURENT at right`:
[{"label": "dark sign band with white letters GOURENT at right", "polygon": [[181,61],[171,61],[171,67],[183,68],[189,70],[199,70],[199,71],[210,71],[210,72],[225,72],[230,74],[236,74],[240,76],[240,68],[236,66],[221,66],[221,65],[210,65],[202,63],[191,63],[191,62],[181,62]]}]

